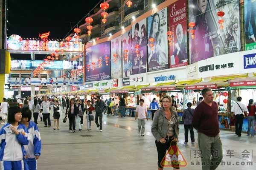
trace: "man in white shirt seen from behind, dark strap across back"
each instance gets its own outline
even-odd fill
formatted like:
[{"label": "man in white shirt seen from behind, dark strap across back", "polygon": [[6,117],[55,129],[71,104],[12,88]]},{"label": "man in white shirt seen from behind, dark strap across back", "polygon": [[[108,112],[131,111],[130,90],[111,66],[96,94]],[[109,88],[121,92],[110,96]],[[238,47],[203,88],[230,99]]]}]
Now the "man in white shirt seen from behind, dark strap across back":
[{"label": "man in white shirt seen from behind, dark strap across back", "polygon": [[242,98],[238,97],[237,102],[231,108],[231,113],[234,113],[236,116],[236,135],[241,136],[241,131],[244,122],[244,115],[247,116],[249,112],[247,107],[241,103]]}]

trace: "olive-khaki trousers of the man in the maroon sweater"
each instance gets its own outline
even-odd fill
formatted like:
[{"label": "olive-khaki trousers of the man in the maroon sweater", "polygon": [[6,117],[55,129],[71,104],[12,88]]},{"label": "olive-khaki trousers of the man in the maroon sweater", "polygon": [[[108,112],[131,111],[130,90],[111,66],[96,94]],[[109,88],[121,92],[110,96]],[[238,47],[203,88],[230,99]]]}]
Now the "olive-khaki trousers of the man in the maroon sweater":
[{"label": "olive-khaki trousers of the man in the maroon sweater", "polygon": [[[204,164],[202,163],[202,170],[215,170],[218,167],[217,164],[220,164],[223,157],[220,136],[209,137],[199,132],[198,146],[202,151],[201,160],[204,162]],[[212,158],[210,157],[210,152],[212,152]]]}]

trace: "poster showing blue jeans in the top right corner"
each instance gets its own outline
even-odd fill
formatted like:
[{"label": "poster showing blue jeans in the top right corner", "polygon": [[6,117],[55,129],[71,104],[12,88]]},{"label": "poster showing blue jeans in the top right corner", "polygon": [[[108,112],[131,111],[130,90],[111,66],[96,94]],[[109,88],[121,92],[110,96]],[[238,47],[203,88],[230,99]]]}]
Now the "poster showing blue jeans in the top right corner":
[{"label": "poster showing blue jeans in the top right corner", "polygon": [[244,0],[245,49],[256,49],[256,0]]}]

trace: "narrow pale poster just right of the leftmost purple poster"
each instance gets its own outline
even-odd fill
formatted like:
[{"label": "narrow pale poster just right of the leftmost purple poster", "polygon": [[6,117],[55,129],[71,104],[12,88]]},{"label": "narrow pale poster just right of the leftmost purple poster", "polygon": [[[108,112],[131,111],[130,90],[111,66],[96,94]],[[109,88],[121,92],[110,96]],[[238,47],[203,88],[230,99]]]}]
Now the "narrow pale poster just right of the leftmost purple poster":
[{"label": "narrow pale poster just right of the leftmost purple poster", "polygon": [[111,40],[111,79],[122,77],[122,37]]}]

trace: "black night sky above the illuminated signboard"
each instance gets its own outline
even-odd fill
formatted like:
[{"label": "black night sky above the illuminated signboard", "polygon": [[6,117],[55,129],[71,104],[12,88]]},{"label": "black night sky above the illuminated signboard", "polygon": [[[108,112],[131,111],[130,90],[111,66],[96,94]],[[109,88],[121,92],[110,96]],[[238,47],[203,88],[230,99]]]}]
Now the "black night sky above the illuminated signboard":
[{"label": "black night sky above the illuminated signboard", "polygon": [[[8,37],[18,34],[39,38],[39,33],[50,31],[49,38],[63,39],[71,29],[70,23],[75,26],[99,1],[8,0]],[[83,23],[84,20],[79,25]]]}]

